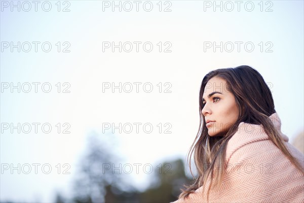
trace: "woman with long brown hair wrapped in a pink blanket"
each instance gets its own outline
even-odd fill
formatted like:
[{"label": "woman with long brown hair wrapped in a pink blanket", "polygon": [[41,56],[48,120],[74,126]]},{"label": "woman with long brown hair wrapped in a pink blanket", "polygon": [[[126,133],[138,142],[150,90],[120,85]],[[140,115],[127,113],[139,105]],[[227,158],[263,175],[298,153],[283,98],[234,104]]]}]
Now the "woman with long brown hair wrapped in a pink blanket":
[{"label": "woman with long brown hair wrapped in a pink blanket", "polygon": [[250,66],[208,73],[200,90],[198,176],[177,202],[304,202],[304,155],[288,143],[274,100]]}]

